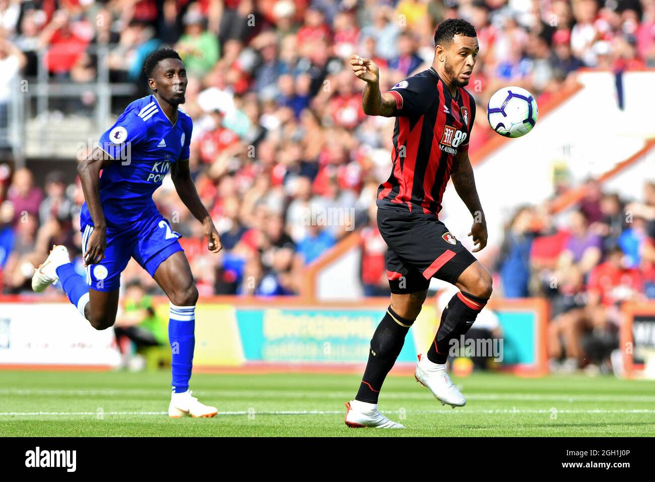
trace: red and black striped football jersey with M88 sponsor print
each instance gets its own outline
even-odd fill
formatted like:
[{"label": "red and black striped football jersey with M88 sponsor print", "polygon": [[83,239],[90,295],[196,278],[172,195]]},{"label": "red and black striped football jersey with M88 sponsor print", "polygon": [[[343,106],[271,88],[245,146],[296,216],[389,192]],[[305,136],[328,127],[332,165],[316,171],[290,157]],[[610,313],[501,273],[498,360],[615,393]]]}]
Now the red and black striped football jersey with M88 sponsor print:
[{"label": "red and black striped football jersey with M88 sponsor print", "polygon": [[378,188],[377,206],[439,214],[455,156],[468,149],[476,102],[462,87],[451,96],[433,67],[388,92],[397,108],[392,171]]}]

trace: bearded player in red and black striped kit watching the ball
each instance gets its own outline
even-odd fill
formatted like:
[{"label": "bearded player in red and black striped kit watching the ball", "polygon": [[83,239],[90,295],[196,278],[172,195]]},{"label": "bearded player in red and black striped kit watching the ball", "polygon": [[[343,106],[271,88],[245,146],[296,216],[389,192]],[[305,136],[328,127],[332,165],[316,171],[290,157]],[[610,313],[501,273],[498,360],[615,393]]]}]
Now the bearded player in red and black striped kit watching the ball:
[{"label": "bearded player in red and black striped kit watching the ball", "polygon": [[432,277],[449,281],[460,291],[443,310],[430,349],[419,355],[415,376],[442,405],[462,407],[466,399],[446,371],[449,341],[468,331],[491,296],[489,271],[438,218],[451,178],[474,218],[468,234],[476,245],[473,251],[487,245],[487,224],[468,159],[476,104],[464,90],[476,64],[477,33],[465,20],[452,18],[438,26],[434,44],[432,66],[388,92],[380,92],[373,61],[350,58],[355,75],[366,82],[364,112],[396,117],[392,172],[377,195],[377,223],[388,245],[391,304],[371,339],[360,389],[346,403],[350,427],[403,428],[378,411],[378,395],[421,311]]}]

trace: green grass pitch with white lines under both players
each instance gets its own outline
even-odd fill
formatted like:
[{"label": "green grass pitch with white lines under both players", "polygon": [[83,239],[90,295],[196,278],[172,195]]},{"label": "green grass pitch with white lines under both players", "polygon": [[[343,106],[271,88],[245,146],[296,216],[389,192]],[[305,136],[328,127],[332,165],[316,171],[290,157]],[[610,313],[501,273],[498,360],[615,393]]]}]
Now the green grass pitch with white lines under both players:
[{"label": "green grass pitch with white lines under both players", "polygon": [[168,372],[0,371],[3,436],[653,436],[653,382],[611,376],[453,378],[466,407],[442,407],[413,376],[390,376],[381,411],[407,430],[351,429],[358,374],[194,374],[214,418],[170,419]]}]

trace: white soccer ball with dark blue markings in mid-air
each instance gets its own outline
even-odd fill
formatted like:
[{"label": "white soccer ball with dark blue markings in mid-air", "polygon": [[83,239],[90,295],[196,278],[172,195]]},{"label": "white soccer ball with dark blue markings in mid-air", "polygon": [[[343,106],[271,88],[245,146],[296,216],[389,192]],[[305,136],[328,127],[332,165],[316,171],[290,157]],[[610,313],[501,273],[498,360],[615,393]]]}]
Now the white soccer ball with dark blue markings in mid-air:
[{"label": "white soccer ball with dark blue markings in mid-air", "polygon": [[491,129],[505,137],[521,137],[532,131],[539,110],[533,94],[521,87],[504,87],[489,99],[487,120]]}]

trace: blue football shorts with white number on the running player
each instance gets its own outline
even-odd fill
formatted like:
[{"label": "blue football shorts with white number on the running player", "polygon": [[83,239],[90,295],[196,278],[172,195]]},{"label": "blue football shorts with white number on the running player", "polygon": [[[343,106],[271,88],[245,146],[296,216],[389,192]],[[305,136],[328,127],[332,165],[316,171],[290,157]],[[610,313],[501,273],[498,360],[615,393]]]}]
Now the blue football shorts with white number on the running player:
[{"label": "blue football shorts with white number on the running player", "polygon": [[[82,251],[86,252],[88,239],[94,226],[81,222]],[[105,258],[98,264],[86,266],[86,284],[97,291],[114,291],[121,286],[121,273],[130,258],[155,277],[155,271],[162,261],[177,251],[184,251],[179,245],[179,233],[171,230],[168,220],[159,211],[145,214],[129,228],[116,230],[107,228],[107,249]]]}]

